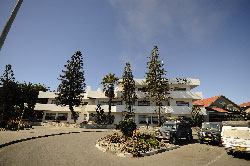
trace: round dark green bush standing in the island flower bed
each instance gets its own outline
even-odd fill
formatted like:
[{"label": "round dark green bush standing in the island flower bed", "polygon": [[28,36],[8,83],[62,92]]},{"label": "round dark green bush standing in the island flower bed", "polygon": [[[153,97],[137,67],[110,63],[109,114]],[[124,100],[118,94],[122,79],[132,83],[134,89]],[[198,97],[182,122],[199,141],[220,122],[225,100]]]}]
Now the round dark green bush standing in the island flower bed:
[{"label": "round dark green bush standing in the island flower bed", "polygon": [[119,128],[125,137],[132,137],[133,131],[136,129],[136,123],[133,118],[128,118],[120,121]]}]

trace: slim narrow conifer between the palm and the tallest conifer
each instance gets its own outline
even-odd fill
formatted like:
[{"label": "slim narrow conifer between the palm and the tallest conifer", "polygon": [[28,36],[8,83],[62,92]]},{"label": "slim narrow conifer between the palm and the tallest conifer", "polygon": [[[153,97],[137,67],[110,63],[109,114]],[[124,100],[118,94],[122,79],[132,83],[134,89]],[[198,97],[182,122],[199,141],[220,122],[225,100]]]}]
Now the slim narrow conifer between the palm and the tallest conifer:
[{"label": "slim narrow conifer between the palm and the tallest conifer", "polygon": [[132,114],[132,107],[137,99],[135,93],[135,81],[134,76],[130,67],[130,63],[126,63],[126,67],[122,76],[122,100],[125,101],[126,108],[128,109],[129,115]]}]

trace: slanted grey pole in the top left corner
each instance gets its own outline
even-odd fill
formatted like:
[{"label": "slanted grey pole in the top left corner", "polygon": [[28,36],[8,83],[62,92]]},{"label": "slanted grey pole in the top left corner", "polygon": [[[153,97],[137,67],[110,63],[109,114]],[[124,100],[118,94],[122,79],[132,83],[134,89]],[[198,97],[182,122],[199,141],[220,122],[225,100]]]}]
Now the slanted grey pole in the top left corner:
[{"label": "slanted grey pole in the top left corner", "polygon": [[7,37],[7,34],[9,32],[10,28],[11,28],[11,25],[12,25],[16,15],[17,15],[17,12],[18,12],[22,2],[23,2],[23,0],[18,0],[14,10],[12,11],[12,13],[11,13],[11,15],[9,17],[9,20],[6,22],[5,27],[3,28],[2,34],[0,36],[0,51],[1,51],[2,47],[3,47],[4,41],[5,41],[6,37]]}]

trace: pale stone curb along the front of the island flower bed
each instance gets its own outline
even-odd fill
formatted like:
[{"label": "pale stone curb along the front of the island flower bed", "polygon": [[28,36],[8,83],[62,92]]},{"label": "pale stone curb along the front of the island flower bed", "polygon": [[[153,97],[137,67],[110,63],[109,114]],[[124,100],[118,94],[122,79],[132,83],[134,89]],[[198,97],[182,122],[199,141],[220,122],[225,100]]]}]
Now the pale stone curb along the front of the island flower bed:
[{"label": "pale stone curb along the front of the island flower bed", "polygon": [[[97,147],[102,152],[112,153],[112,154],[117,155],[118,157],[138,157],[138,156],[133,155],[132,153],[115,153],[113,151],[109,151],[107,148],[103,148],[103,147],[99,146],[98,144],[96,144],[95,147]],[[167,147],[167,148],[158,149],[158,150],[155,150],[155,151],[141,153],[140,157],[152,156],[152,155],[155,155],[157,153],[163,153],[163,152],[166,152],[166,151],[169,151],[169,150],[178,149],[178,148],[180,148],[180,147],[178,145],[175,145],[173,147]]]}]

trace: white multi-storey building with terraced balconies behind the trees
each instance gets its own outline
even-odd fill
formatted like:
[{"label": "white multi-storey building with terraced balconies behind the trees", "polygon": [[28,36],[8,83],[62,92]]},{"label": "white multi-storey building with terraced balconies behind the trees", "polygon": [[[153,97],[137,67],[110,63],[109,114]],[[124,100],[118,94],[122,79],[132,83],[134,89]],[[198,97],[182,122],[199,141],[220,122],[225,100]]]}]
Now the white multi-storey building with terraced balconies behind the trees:
[{"label": "white multi-storey building with terraced balconies behind the trees", "polygon": [[[123,119],[125,111],[125,102],[122,101],[121,91],[122,84],[119,80],[118,87],[115,90],[115,99],[113,99],[111,113],[115,116],[114,124],[118,124]],[[169,79],[169,96],[171,99],[162,102],[161,115],[166,117],[191,117],[193,101],[202,99],[202,92],[191,92],[191,90],[200,85],[199,79]],[[145,125],[148,119],[150,125],[157,125],[157,110],[155,102],[145,100],[144,92],[145,79],[135,79],[136,94],[138,100],[133,107],[135,113],[135,122],[138,125]],[[68,122],[73,122],[71,112],[68,107],[56,105],[55,92],[39,92],[39,103],[36,104],[35,110],[43,111],[43,121],[52,121],[57,117]],[[76,107],[75,111],[79,112],[77,123],[88,121],[89,115],[95,113],[97,105],[100,104],[104,112],[108,112],[108,98],[101,89],[92,91],[88,86],[83,99],[84,105]]]}]

